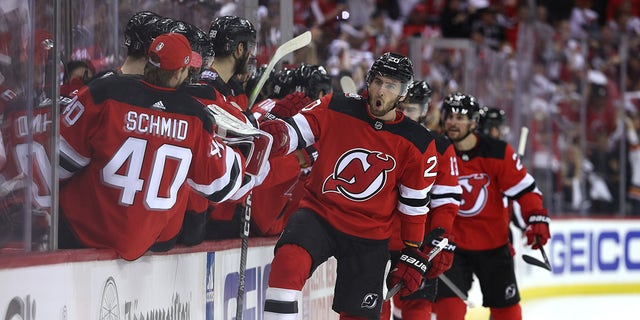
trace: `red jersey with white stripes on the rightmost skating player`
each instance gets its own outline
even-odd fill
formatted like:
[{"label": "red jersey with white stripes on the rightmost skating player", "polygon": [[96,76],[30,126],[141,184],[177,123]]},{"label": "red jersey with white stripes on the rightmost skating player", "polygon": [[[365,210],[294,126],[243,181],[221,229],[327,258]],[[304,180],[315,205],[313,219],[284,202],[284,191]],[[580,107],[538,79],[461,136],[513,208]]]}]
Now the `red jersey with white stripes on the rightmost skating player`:
[{"label": "red jersey with white stripes on the rightmost skating player", "polygon": [[511,145],[475,135],[478,142],[472,150],[456,151],[462,200],[453,233],[459,248],[487,250],[509,242],[510,213],[504,197],[518,201],[525,221],[544,208],[535,180]]}]

